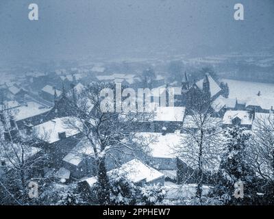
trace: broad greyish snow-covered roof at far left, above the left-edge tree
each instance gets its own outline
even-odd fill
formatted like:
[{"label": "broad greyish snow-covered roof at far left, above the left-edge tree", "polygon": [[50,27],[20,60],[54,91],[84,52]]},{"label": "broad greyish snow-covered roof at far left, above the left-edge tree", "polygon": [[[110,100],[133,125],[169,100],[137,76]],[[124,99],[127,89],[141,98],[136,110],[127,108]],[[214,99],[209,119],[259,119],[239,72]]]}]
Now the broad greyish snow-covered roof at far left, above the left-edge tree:
[{"label": "broad greyish snow-covered roof at far left, above the left-edge tree", "polygon": [[23,120],[32,116],[37,116],[45,112],[49,112],[51,108],[44,107],[36,102],[27,102],[25,105],[21,105],[13,109],[15,120]]}]

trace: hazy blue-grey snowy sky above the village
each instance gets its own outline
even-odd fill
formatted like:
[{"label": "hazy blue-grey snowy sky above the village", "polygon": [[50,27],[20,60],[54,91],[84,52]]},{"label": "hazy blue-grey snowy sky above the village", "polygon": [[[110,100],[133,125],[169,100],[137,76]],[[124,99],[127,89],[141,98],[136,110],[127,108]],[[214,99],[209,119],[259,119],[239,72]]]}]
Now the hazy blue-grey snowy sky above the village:
[{"label": "hazy blue-grey snowy sky above the village", "polygon": [[[39,21],[28,20],[29,3]],[[234,21],[234,4],[245,21]],[[197,45],[257,51],[272,46],[273,0],[1,0],[0,60],[77,58]]]}]

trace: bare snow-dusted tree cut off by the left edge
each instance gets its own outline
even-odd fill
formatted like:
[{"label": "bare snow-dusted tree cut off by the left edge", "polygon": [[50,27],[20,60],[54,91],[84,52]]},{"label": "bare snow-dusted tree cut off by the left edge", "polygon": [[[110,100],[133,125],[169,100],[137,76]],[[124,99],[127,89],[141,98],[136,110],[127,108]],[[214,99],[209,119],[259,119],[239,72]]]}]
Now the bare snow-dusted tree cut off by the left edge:
[{"label": "bare snow-dusted tree cut off by the left edge", "polygon": [[5,204],[25,205],[31,201],[28,185],[42,172],[45,158],[33,139],[17,129],[12,111],[1,111],[0,196]]}]

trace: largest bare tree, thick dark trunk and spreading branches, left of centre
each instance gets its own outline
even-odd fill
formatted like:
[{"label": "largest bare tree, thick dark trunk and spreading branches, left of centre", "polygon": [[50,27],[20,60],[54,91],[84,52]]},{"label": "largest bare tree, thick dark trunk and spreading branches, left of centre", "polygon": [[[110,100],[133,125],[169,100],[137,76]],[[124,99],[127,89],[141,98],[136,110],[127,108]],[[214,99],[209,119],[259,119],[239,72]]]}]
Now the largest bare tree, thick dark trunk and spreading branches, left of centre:
[{"label": "largest bare tree, thick dark trunk and spreading branches, left of centre", "polygon": [[[137,112],[114,112],[102,110],[101,103],[105,96],[100,96],[101,90],[109,88],[115,90],[113,83],[91,83],[81,92],[74,92],[72,96],[71,108],[77,116],[66,118],[64,124],[69,129],[75,129],[84,134],[93,150],[95,157],[95,168],[98,183],[101,187],[98,198],[101,205],[110,202],[110,183],[107,176],[106,158],[111,157],[116,160],[117,153],[134,155],[141,149],[132,145],[132,126],[138,120],[148,120],[149,114],[138,114]],[[115,92],[114,92],[115,93]],[[113,101],[113,100],[112,100]],[[112,108],[121,102],[110,101],[109,107]],[[119,163],[118,160],[116,160]]]}]

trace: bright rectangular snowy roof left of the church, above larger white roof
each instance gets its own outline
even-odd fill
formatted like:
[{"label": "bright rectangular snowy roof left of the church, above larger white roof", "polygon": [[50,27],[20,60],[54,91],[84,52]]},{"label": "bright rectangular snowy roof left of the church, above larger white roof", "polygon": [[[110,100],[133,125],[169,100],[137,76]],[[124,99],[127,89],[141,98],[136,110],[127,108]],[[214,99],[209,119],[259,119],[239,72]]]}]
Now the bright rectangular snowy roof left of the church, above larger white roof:
[{"label": "bright rectangular snowy roof left of the church, above larger white roof", "polygon": [[155,110],[154,121],[182,122],[186,107],[157,107]]}]

